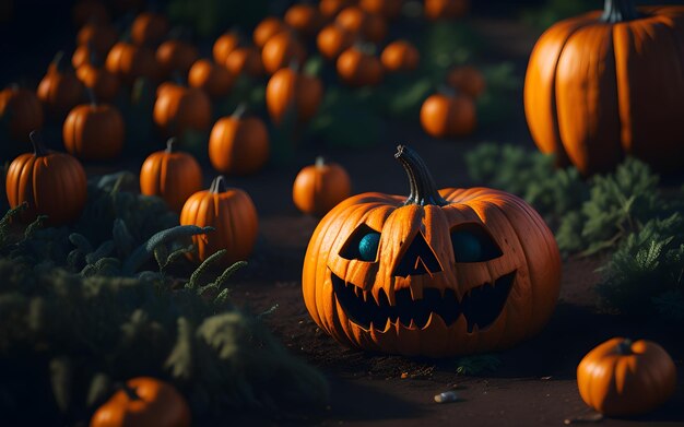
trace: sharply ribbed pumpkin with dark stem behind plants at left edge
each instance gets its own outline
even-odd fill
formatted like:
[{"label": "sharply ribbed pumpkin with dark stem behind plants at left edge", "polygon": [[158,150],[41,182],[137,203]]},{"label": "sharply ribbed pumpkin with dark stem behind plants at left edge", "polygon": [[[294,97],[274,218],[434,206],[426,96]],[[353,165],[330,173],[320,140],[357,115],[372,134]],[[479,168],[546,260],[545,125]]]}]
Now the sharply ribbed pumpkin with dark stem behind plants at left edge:
[{"label": "sharply ribbed pumpkin with dark stem behind plants at left edge", "polygon": [[85,170],[74,157],[48,151],[37,131],[31,132],[33,154],[16,157],[8,169],[5,192],[10,207],[26,202],[24,221],[48,215],[47,223],[62,225],[78,220],[85,206]]}]

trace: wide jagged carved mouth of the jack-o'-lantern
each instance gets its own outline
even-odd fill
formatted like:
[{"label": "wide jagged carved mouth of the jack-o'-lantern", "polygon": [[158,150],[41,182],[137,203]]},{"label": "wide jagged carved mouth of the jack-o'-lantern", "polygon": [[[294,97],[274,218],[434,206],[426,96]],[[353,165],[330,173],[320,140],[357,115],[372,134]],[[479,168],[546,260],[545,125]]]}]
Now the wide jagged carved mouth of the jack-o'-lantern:
[{"label": "wide jagged carved mouth of the jack-o'-lantern", "polygon": [[462,315],[468,323],[468,332],[473,332],[475,325],[482,330],[494,323],[504,309],[516,278],[514,271],[497,278],[494,284],[485,283],[470,289],[461,300],[453,289],[446,289],[441,296],[439,289],[431,287],[423,289],[422,299],[414,300],[411,289],[403,288],[397,290],[396,304],[390,306],[385,289],[380,289],[376,301],[372,292],[345,283],[332,272],[330,275],[340,306],[352,322],[366,330],[370,329],[372,323],[376,329],[384,329],[388,320],[392,323],[399,320],[405,327],[413,321],[423,329],[434,312],[447,327]]}]

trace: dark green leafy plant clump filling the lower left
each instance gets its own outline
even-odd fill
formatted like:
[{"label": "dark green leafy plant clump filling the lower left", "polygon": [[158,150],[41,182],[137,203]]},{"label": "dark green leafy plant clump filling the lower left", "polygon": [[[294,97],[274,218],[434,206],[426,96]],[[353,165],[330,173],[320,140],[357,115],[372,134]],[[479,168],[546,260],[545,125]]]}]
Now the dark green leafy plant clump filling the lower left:
[{"label": "dark green leafy plant clump filling the lower left", "polygon": [[[213,274],[220,251],[189,280],[173,277],[169,265],[191,250],[184,240],[211,229],[173,221],[160,229],[163,202],[122,191],[125,179],[91,182],[86,212],[101,215],[71,227],[43,228],[44,218],[17,226],[23,207],[0,222],[3,418],[84,420],[116,383],[143,375],[176,384],[198,419],[321,407],[320,373],[231,304],[227,281],[244,263]],[[109,236],[87,232],[107,220]]]}]

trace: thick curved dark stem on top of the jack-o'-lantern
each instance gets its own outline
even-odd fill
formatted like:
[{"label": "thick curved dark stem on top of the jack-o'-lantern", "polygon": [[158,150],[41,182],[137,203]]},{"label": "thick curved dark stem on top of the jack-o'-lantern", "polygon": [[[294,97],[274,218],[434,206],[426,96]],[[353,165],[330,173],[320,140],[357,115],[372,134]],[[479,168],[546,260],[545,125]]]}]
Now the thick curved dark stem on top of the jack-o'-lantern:
[{"label": "thick curved dark stem on top of the jack-o'-lantern", "polygon": [[424,206],[426,204],[436,204],[438,206],[445,206],[449,204],[449,202],[439,194],[439,191],[437,191],[437,186],[435,185],[429,169],[415,151],[406,145],[399,145],[397,146],[394,158],[401,162],[401,165],[409,176],[411,193],[404,202],[404,205],[418,204]]}]

